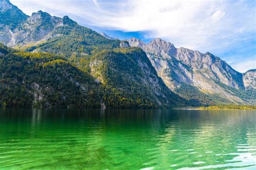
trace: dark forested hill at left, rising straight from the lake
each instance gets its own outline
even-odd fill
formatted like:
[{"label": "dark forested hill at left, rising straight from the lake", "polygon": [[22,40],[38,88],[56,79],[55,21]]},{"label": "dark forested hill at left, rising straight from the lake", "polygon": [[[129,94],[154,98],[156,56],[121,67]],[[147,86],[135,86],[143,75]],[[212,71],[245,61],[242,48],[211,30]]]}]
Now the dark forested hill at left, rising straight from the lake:
[{"label": "dark forested hill at left, rising straight from the lake", "polygon": [[68,61],[46,53],[0,56],[0,106],[100,107],[95,91],[80,93],[82,84],[97,86],[93,78]]}]

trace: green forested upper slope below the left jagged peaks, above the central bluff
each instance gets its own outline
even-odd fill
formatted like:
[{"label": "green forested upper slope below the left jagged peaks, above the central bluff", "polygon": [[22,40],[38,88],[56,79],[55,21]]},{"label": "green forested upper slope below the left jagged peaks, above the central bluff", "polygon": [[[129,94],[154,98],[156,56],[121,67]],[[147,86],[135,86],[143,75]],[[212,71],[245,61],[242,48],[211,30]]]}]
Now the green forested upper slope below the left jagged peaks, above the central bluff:
[{"label": "green forested upper slope below the left jagged peaks, above the central bluff", "polygon": [[58,27],[51,34],[58,36],[35,46],[29,45],[25,50],[37,49],[69,58],[72,54],[78,57],[86,56],[103,49],[119,47],[120,44],[120,40],[106,39],[99,33],[79,25]]}]

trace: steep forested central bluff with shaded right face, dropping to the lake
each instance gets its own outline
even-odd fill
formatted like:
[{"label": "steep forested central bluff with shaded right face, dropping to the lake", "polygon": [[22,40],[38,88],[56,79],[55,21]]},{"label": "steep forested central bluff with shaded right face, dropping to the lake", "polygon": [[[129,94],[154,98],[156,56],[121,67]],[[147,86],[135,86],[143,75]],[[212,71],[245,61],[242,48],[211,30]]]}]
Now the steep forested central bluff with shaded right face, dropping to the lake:
[{"label": "steep forested central bluff with shaded right face, dropping to the lake", "polygon": [[104,99],[112,101],[110,106],[118,102],[123,107],[142,103],[152,108],[188,104],[165,86],[140,48],[105,50],[81,60],[80,66],[109,88],[111,95]]}]

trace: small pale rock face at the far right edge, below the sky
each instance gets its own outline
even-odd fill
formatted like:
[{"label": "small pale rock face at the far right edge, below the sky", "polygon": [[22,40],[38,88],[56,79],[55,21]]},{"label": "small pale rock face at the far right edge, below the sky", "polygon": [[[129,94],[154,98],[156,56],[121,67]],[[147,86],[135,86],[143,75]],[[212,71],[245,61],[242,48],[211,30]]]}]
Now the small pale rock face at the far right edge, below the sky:
[{"label": "small pale rock face at the far right edge, below the sky", "polygon": [[242,80],[246,89],[256,89],[256,69],[251,69],[242,74]]}]

